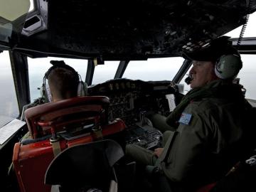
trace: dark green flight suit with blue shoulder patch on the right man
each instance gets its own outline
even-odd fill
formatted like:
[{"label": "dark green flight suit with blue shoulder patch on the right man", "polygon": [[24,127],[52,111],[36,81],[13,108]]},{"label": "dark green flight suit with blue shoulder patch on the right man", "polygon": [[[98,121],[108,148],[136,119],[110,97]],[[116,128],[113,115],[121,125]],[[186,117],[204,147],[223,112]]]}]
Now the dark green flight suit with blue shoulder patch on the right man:
[{"label": "dark green flight suit with blue shoulder patch on the right man", "polygon": [[[224,81],[215,80],[205,88],[222,85]],[[244,151],[243,124],[249,106],[240,97],[242,92],[236,91],[220,89],[218,97],[191,100],[181,114],[188,114],[188,118],[179,119],[176,131],[168,132],[169,139],[159,159],[152,151],[133,144],[127,145],[127,155],[139,163],[159,166],[171,181],[195,187],[225,176]]]}]

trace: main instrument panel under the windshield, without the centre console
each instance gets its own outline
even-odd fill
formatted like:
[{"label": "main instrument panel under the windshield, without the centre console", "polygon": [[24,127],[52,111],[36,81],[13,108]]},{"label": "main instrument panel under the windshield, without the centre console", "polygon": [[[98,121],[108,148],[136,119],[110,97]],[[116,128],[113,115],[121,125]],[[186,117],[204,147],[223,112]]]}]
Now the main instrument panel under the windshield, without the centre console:
[{"label": "main instrument panel under the windshield, without the centre console", "polygon": [[169,94],[178,94],[171,81],[117,79],[88,87],[88,95],[110,98],[109,120],[121,118],[127,126],[139,122],[149,112],[169,114]]}]

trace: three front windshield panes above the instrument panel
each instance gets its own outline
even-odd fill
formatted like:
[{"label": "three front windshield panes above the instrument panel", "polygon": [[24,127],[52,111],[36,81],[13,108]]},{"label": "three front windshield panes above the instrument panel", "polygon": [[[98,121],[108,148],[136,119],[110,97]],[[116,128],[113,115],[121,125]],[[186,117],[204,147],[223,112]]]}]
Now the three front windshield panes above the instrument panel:
[{"label": "three front windshield panes above the instrument panel", "polygon": [[[73,67],[85,81],[87,73],[87,60],[68,58],[28,58],[28,75],[31,92],[31,101],[40,97],[38,88],[43,83],[43,75],[50,68],[50,60],[64,60],[65,63]],[[173,80],[183,63],[183,58],[151,58],[148,60],[129,61],[122,78],[131,80]],[[114,79],[119,61],[105,61],[104,65],[96,65],[92,78],[92,85]]]}]

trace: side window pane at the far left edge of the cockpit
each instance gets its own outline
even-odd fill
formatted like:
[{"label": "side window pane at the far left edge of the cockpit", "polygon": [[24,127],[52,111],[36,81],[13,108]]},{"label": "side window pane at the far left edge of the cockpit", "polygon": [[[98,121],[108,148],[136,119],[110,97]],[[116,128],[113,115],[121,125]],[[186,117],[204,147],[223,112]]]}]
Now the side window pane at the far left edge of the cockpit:
[{"label": "side window pane at the far left edge of the cockpit", "polygon": [[18,117],[18,102],[11,72],[9,52],[0,53],[0,128],[12,119]]}]

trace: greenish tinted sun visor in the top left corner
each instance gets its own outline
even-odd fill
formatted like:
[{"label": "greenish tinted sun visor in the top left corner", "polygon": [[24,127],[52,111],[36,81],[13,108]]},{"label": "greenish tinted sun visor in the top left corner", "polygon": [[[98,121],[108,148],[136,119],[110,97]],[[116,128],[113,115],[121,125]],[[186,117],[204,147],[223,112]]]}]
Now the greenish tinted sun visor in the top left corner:
[{"label": "greenish tinted sun visor in the top left corner", "polygon": [[0,41],[9,43],[14,33],[21,33],[31,4],[29,0],[0,0],[0,5]]}]

